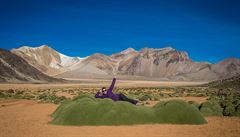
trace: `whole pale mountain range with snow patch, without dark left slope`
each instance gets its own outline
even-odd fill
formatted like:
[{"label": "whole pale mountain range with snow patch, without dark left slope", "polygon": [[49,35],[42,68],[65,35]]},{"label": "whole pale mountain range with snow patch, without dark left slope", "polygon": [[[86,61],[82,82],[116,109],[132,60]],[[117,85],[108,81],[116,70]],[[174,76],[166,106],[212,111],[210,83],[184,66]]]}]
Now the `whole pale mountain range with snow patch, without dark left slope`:
[{"label": "whole pale mountain range with snow patch, without dark left slope", "polygon": [[240,73],[240,60],[228,58],[215,64],[195,62],[187,52],[171,47],[128,48],[110,56],[96,53],[87,57],[69,57],[47,45],[23,46],[11,53],[23,58],[42,73],[68,79],[119,76],[155,80],[213,81]]}]

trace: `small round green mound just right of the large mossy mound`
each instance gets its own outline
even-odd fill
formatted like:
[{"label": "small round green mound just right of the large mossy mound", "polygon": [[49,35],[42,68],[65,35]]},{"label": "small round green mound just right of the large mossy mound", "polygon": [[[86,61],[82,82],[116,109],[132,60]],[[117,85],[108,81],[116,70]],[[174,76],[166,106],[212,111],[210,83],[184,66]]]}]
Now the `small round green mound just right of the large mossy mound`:
[{"label": "small round green mound just right of the large mossy mound", "polygon": [[223,109],[214,101],[203,102],[199,107],[204,116],[222,116]]}]

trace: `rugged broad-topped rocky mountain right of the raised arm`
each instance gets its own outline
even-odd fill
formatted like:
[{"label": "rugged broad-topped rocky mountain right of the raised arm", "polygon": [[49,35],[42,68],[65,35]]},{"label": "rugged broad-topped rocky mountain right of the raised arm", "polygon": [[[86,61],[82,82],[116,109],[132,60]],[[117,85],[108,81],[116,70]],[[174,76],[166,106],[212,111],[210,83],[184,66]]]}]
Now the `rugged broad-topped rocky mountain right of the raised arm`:
[{"label": "rugged broad-topped rocky mountain right of the raised arm", "polygon": [[188,55],[167,47],[162,49],[143,48],[132,59],[129,67],[123,72],[127,75],[146,77],[167,77],[177,72],[186,71],[191,63]]}]

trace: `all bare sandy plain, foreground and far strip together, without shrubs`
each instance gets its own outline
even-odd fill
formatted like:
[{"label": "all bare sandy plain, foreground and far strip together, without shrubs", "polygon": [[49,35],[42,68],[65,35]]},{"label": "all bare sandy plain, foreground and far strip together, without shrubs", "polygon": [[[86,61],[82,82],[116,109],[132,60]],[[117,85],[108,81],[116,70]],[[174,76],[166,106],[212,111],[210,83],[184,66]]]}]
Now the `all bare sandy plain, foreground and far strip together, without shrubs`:
[{"label": "all bare sandy plain, foreground and far strip together, without shrubs", "polygon": [[[181,87],[197,86],[202,82],[157,82],[157,81],[119,81],[117,88],[129,87]],[[74,84],[1,84],[1,90],[22,89],[30,92],[39,90],[81,89],[109,85],[108,80],[85,80]],[[93,91],[97,92],[97,91]],[[58,92],[72,98],[73,95]],[[204,102],[206,97],[167,97],[160,100],[182,99]],[[152,106],[158,101],[147,101]],[[44,103],[37,100],[0,99],[0,137],[238,137],[240,118],[210,116],[205,117],[207,124],[144,124],[121,126],[59,126],[51,125],[51,114],[58,104]]]}]

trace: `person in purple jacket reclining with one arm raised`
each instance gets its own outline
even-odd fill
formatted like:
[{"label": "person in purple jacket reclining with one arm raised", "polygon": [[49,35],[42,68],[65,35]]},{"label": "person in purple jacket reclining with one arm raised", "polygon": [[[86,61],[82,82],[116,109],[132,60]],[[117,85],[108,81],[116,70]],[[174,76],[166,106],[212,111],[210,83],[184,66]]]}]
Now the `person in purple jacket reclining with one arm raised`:
[{"label": "person in purple jacket reclining with one arm raised", "polygon": [[114,88],[115,83],[116,83],[116,78],[113,78],[112,84],[110,85],[110,87],[108,89],[106,89],[105,87],[101,88],[96,93],[95,98],[110,98],[113,101],[127,101],[129,103],[134,104],[134,105],[136,105],[138,103],[137,100],[130,99],[122,93],[114,94],[113,93],[113,88]]}]

